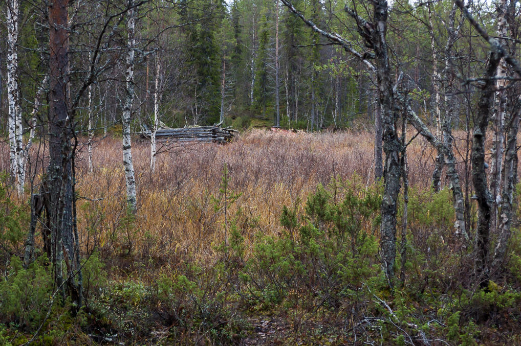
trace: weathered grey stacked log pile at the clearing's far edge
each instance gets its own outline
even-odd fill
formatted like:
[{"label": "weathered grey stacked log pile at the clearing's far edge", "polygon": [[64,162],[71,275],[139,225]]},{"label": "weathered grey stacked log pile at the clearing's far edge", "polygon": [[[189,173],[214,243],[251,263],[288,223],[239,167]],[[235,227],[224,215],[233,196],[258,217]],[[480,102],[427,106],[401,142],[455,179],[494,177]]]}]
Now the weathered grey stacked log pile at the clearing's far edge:
[{"label": "weathered grey stacked log pile at the clearing's far edge", "polygon": [[[237,133],[231,126],[191,126],[181,127],[180,129],[158,129],[156,140],[177,140],[178,142],[215,142],[224,144],[230,142]],[[143,131],[141,137],[150,138],[151,131]]]}]

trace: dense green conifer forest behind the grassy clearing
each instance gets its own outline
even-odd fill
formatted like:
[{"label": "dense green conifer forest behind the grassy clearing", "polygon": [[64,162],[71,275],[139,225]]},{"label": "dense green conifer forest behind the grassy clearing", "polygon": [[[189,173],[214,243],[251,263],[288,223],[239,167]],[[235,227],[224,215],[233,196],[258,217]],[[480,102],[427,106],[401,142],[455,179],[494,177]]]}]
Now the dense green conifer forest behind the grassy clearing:
[{"label": "dense green conifer forest behind the grassy clearing", "polygon": [[[367,50],[357,39],[356,23],[343,10],[343,3],[297,1],[294,6],[319,27],[346,37],[361,52]],[[473,7],[479,10],[481,21],[493,28],[495,10],[486,3],[473,3]],[[403,73],[407,88],[414,94],[416,109],[423,110],[429,124],[435,123],[436,83],[441,83],[436,76],[445,68],[444,45],[451,8],[451,2],[394,2],[390,8],[388,40],[393,70]],[[110,6],[76,2],[72,6],[71,20],[76,30],[71,35],[73,81],[88,77],[84,62],[95,49],[100,25],[107,19],[104,16],[109,15],[108,10],[116,13],[118,9],[122,8],[117,2]],[[19,84],[24,114],[31,113],[48,70],[46,10],[43,5],[20,4]],[[358,10],[361,14],[369,11],[364,4],[358,5]],[[355,120],[366,124],[374,120],[377,95],[374,76],[367,66],[339,45],[307,30],[282,5],[277,9],[271,1],[151,1],[140,5],[138,12],[134,130],[140,129],[139,124],[151,125],[156,78],[160,121],[172,127],[216,123],[221,113],[227,124],[239,129],[277,125],[277,108],[281,126],[309,131],[341,129]],[[110,27],[110,41],[104,42],[107,50],[98,61],[103,71],[96,75],[92,86],[90,108],[98,132],[120,123],[120,100],[125,94],[125,83],[120,83],[125,72],[122,51],[126,47],[122,24]],[[2,35],[0,108],[7,114],[5,25]],[[468,23],[463,23],[459,36],[451,68],[463,82],[484,69],[487,48]],[[475,83],[457,84],[454,121],[465,127],[465,121],[472,119],[467,105],[472,102]],[[79,102],[78,121],[86,131],[89,99],[83,97]],[[5,131],[7,117],[2,119]]]}]

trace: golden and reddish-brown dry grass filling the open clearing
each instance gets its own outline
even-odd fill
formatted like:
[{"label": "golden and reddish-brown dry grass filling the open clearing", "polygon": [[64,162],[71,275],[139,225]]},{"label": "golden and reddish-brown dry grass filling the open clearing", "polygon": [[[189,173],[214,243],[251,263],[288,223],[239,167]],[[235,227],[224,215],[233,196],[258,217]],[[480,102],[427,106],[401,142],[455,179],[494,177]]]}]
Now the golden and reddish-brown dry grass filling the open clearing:
[{"label": "golden and reddish-brown dry grass filling the open clearing", "polygon": [[[456,137],[462,138],[456,143],[464,156],[464,133]],[[255,130],[225,146],[171,146],[158,155],[154,174],[149,168],[150,146],[134,141],[139,205],[132,224],[126,221],[120,139],[97,142],[93,174],[86,169],[86,148],[80,146],[77,191],[86,199],[78,203],[78,220],[84,250],[97,247],[107,257],[137,255],[160,263],[175,263],[187,254],[208,258],[225,236],[224,210],[216,210],[211,198],[219,196],[225,163],[229,189],[242,194],[230,206],[229,220],[237,219],[251,245],[259,232],[280,232],[282,206],[305,201],[317,184],[354,175],[373,184],[373,138],[365,131],[288,135]],[[3,149],[0,162],[8,170],[8,150]],[[408,148],[411,185],[429,186],[435,155],[421,136],[414,140]],[[460,172],[465,184],[463,164]],[[239,209],[241,214],[235,216]]]}]

